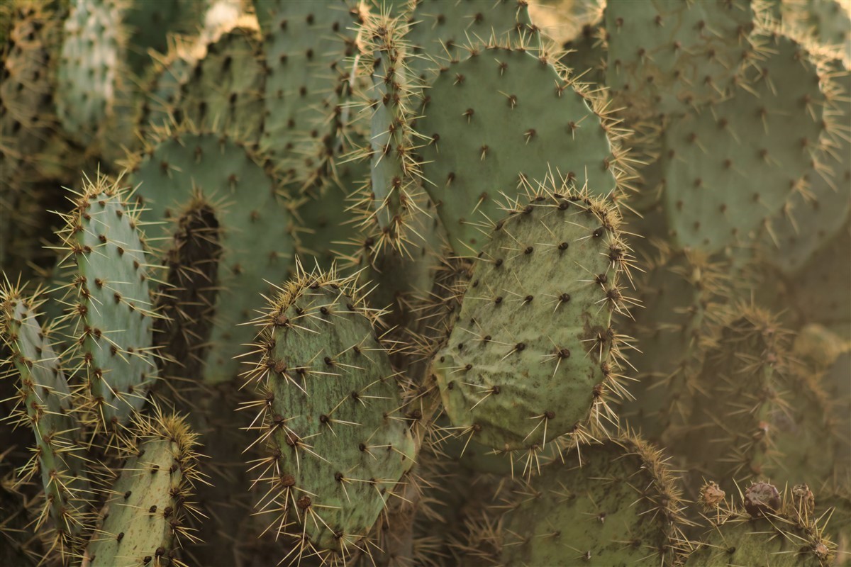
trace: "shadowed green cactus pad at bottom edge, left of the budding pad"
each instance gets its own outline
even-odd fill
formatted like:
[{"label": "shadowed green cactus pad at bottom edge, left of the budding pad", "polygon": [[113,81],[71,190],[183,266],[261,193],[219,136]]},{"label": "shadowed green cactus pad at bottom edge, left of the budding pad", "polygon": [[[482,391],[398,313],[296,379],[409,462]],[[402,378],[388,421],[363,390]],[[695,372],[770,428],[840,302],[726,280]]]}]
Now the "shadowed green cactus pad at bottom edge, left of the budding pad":
[{"label": "shadowed green cactus pad at bottom edge, left of the budding pad", "polygon": [[661,451],[620,434],[564,459],[506,498],[485,538],[494,564],[671,564],[681,504]]}]

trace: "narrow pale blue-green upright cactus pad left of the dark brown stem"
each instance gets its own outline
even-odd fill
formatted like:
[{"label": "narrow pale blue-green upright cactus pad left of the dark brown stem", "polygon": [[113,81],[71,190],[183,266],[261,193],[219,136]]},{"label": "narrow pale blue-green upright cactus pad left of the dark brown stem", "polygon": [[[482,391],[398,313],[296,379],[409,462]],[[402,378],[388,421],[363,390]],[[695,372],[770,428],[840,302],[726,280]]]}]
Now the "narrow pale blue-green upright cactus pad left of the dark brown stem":
[{"label": "narrow pale blue-green upright cactus pad left of the dark brown stem", "polygon": [[101,427],[129,422],[157,377],[151,277],[139,211],[117,183],[88,179],[60,235],[72,281],[65,299],[85,371],[88,409]]}]

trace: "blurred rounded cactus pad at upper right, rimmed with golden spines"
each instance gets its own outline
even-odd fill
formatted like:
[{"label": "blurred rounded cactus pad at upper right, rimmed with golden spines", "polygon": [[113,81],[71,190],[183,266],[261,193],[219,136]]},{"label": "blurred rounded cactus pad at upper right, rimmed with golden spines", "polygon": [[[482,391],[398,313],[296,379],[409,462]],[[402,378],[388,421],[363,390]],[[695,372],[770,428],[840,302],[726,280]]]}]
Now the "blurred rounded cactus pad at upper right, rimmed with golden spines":
[{"label": "blurred rounded cactus pad at upper right, rimmed with golden spines", "polygon": [[751,42],[751,86],[665,131],[665,210],[680,247],[711,253],[751,243],[820,159],[818,61],[781,35]]}]

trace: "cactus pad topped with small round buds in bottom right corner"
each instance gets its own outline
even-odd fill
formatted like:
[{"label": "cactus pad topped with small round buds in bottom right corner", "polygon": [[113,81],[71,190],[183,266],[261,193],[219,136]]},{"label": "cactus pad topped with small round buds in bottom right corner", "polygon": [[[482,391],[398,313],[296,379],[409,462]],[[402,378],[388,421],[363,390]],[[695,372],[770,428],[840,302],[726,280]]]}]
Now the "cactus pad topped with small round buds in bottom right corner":
[{"label": "cactus pad topped with small round buds in bottom right corner", "polygon": [[[757,483],[732,503],[724,493],[706,502],[704,524],[708,528],[698,541],[685,543],[685,567],[716,565],[771,565],[772,567],[827,567],[833,564],[836,544],[823,535],[823,521],[815,519],[797,500],[795,491],[782,495],[767,483]],[[767,502],[763,494],[772,495]],[[812,496],[812,493],[810,493]],[[757,500],[765,502],[759,506]],[[750,508],[750,512],[747,508]]]}]

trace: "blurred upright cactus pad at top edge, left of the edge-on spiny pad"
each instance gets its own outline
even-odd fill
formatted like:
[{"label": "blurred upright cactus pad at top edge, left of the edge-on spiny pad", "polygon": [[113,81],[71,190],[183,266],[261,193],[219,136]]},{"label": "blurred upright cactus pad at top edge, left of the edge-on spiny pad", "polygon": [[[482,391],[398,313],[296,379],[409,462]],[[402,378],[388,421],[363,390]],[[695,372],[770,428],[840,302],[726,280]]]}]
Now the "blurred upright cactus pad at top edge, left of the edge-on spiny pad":
[{"label": "blurred upright cactus pad at top edge, left of the edge-on spiny pad", "polygon": [[343,0],[254,0],[254,9],[268,73],[260,147],[298,184],[311,185],[328,162],[328,147],[335,151],[358,10]]}]

